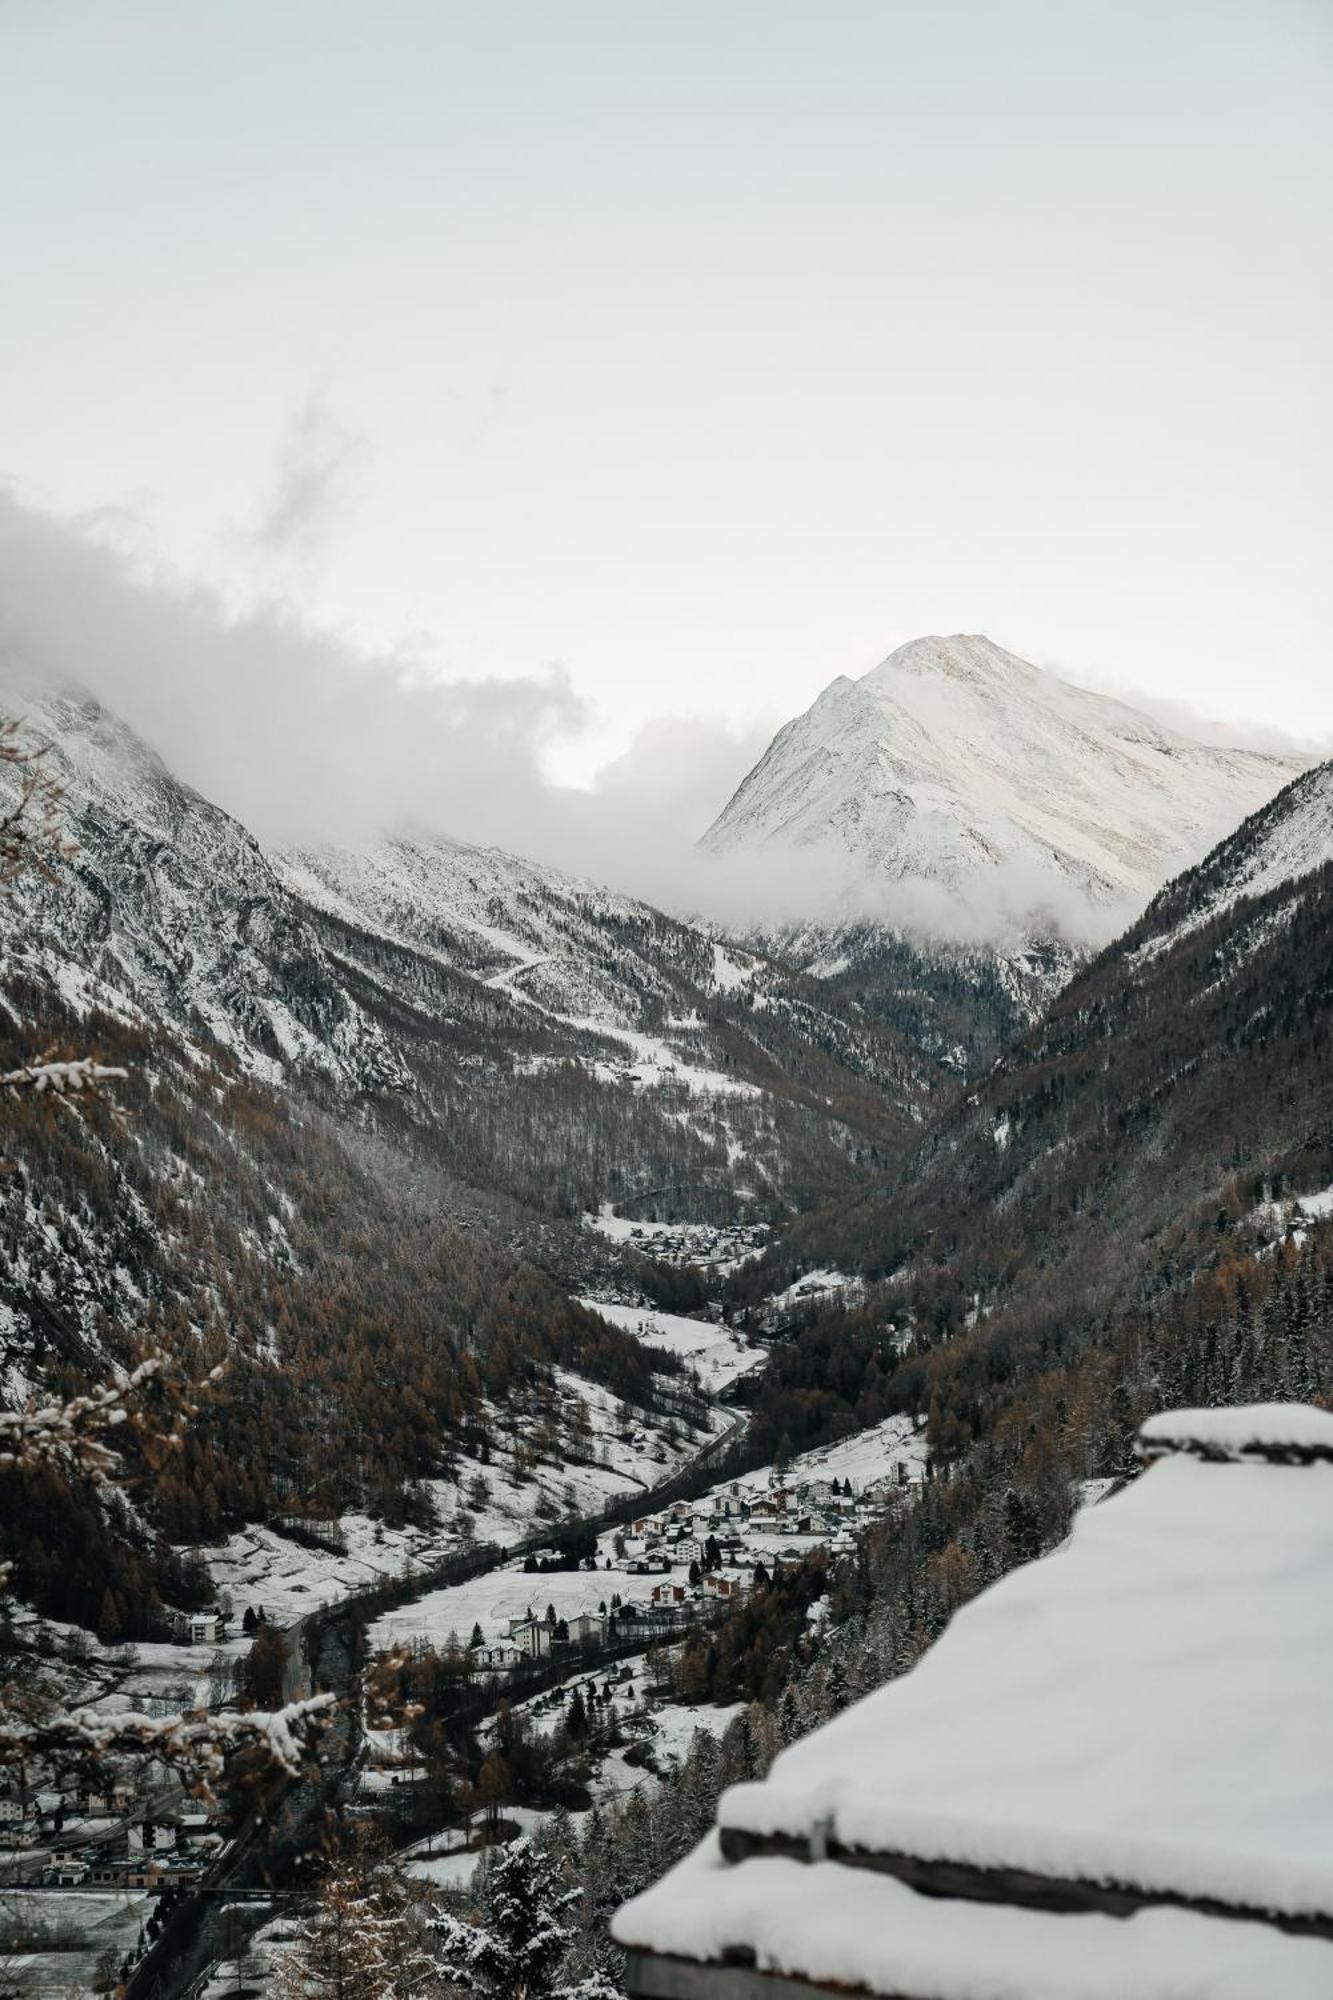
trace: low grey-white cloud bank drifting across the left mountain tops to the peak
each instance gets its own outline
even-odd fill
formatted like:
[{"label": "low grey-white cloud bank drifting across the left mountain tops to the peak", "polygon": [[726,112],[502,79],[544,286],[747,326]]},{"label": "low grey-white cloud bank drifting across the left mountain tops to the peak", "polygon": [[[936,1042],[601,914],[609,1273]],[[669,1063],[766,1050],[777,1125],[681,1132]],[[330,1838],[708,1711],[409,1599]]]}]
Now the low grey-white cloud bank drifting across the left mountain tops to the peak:
[{"label": "low grey-white cloud bank drifting across the left mountain tops to the peak", "polygon": [[[296,426],[266,514],[276,548],[316,530],[342,464],[318,412]],[[106,534],[106,518],[78,526],[0,492],[0,664],[88,688],[270,850],[422,828],[743,930],[837,918],[1017,942],[1045,912],[1049,928],[1101,942],[1135,914],[1093,910],[1049,878],[997,872],[983,906],[813,850],[711,856],[697,838],[769,722],[662,716],[590,788],[560,786],[548,756],[592,720],[562,670],[442,680],[410,652],[372,656],[310,630],[280,602],[234,614]]]}]

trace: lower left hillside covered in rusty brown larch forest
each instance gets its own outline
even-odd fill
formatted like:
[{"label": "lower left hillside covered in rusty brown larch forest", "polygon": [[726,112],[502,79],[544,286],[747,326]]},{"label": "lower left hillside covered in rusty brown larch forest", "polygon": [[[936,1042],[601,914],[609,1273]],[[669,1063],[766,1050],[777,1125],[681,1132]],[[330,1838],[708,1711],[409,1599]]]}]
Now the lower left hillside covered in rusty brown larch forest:
[{"label": "lower left hillside covered in rusty brown larch forest", "polygon": [[[96,1046],[128,1076],[84,1110],[16,1094],[0,1180],[6,1394],[82,1388],[164,1352],[188,1380],[214,1366],[182,1448],[138,1468],[134,1508],[76,1476],[4,1476],[2,1550],[38,1608],[118,1636],[188,1600],[170,1544],[276,1514],[430,1518],[426,1480],[460,1448],[512,1452],[512,1430],[582,1444],[550,1396],[560,1364],[642,1410],[675,1410],[652,1356],[480,1230],[440,1220],[430,1172],[390,1176],[318,1106],[202,1056],[162,1028],[70,1014],[10,980],[0,1064]],[[508,1416],[506,1416],[508,1412]],[[202,1586],[200,1586],[202,1588]]]}]

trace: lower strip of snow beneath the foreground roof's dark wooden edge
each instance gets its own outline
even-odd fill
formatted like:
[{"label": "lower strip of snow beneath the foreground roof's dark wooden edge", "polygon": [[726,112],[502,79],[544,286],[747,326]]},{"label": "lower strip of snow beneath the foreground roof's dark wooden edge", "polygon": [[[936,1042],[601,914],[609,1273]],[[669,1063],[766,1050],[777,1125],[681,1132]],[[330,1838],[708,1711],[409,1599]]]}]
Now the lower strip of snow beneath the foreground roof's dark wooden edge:
[{"label": "lower strip of snow beneath the foreground roof's dark wooden edge", "polygon": [[[763,1856],[727,1866],[717,1836],[610,1928],[630,1950],[695,1960],[753,1952],[761,1972],[923,2000],[1327,2000],[1333,1992],[1333,1944],[1267,1924],[1169,1908],[1053,1918],[943,1904],[835,1862]],[[628,1986],[658,1990],[632,1962]]]}]

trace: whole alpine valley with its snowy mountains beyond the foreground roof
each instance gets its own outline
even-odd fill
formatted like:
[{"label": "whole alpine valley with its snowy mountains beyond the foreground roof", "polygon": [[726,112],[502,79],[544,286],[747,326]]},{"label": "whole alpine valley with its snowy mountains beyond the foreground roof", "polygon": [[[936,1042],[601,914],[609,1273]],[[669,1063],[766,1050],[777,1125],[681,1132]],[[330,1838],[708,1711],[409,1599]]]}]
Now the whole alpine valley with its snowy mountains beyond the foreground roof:
[{"label": "whole alpine valley with its snowy mountains beyond the foreground roof", "polygon": [[88,692],[0,706],[4,1404],[194,1384],[110,1484],[0,1460],[14,1672],[348,1696],[132,1994],[202,1990],[208,1894],[334,1810],[454,1888],[474,1814],[546,1828],[614,1990],[719,1788],[1151,1410],[1333,1394],[1333,766],[923,638],[721,810],[719,866],[823,884],[725,934],[438,828],[266,850]]}]

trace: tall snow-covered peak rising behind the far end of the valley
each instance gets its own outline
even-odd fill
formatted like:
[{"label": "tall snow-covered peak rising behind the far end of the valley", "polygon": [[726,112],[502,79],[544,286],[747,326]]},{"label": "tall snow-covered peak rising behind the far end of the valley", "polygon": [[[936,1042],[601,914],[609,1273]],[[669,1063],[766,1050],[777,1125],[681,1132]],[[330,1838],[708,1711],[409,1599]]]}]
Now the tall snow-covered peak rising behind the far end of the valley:
[{"label": "tall snow-covered peak rising behind the far end of the valley", "polygon": [[825,872],[755,942],[981,1074],[1149,896],[1297,770],[1195,742],[983,636],[919,638],[793,718],[703,836]]}]

